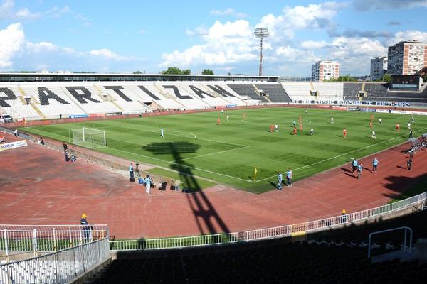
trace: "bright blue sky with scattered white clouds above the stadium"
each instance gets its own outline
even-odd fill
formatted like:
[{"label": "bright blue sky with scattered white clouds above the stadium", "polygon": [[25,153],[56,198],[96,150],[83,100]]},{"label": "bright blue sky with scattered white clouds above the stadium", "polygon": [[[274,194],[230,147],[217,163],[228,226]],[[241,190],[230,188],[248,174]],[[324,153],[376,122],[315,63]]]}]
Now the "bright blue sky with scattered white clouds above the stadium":
[{"label": "bright blue sky with scattered white clouds above the stadium", "polygon": [[258,75],[263,27],[263,75],[310,77],[319,60],[369,75],[389,45],[427,43],[426,16],[427,0],[0,0],[0,72]]}]

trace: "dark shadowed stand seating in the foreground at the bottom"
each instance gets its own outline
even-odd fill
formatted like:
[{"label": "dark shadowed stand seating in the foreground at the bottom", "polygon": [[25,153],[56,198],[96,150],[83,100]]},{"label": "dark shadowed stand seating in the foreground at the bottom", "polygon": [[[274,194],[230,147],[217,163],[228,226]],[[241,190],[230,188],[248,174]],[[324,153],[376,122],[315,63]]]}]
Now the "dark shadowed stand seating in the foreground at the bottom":
[{"label": "dark shadowed stand seating in the foreground at the bottom", "polygon": [[[270,239],[221,248],[119,252],[91,283],[424,283],[426,262],[371,263],[366,243],[370,232],[399,226],[410,226],[415,239],[426,237],[426,217],[423,211],[337,229],[326,232],[322,241]],[[389,248],[381,253],[392,249],[389,235],[384,236],[374,244],[377,251]]]}]

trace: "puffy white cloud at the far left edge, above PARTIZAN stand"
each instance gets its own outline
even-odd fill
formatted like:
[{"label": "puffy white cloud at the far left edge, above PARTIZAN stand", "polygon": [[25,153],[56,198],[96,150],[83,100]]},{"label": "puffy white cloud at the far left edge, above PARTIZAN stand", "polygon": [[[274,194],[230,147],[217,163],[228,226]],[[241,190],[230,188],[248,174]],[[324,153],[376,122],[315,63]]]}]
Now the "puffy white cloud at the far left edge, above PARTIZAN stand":
[{"label": "puffy white cloud at the far left edge, above PARTIZAN stand", "polygon": [[11,67],[12,59],[23,49],[24,44],[25,35],[20,23],[13,23],[0,30],[0,67]]}]

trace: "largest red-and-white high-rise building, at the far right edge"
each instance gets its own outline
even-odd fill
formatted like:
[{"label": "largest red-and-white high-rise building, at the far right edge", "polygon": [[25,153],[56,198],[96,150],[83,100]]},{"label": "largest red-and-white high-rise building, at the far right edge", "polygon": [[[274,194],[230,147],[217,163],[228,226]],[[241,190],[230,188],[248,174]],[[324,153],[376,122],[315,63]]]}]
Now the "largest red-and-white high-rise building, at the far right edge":
[{"label": "largest red-and-white high-rise building, at the far right edge", "polygon": [[389,46],[387,72],[391,75],[413,75],[427,66],[427,45],[419,41],[401,41]]}]

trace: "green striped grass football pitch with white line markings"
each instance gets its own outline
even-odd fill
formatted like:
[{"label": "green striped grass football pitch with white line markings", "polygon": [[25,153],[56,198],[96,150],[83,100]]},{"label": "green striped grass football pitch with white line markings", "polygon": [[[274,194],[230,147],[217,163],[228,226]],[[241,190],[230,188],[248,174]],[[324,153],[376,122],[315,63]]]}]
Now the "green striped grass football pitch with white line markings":
[{"label": "green striped grass football pitch with white line markings", "polygon": [[[247,119],[242,120],[243,114]],[[230,120],[226,121],[226,115]],[[250,192],[274,189],[278,171],[291,168],[294,180],[349,163],[408,138],[408,114],[374,114],[376,140],[371,138],[371,113],[300,108],[265,108],[176,114],[135,119],[90,121],[76,124],[33,126],[21,129],[59,141],[68,141],[69,129],[83,126],[106,131],[107,147],[102,153],[158,165],[183,173],[182,177],[197,189],[197,175]],[[302,118],[302,131],[292,135],[292,121]],[[330,117],[334,124],[330,124]],[[383,124],[378,125],[381,118]],[[427,132],[427,117],[416,116],[414,136]],[[396,123],[401,125],[396,132]],[[278,131],[270,133],[270,124]],[[298,125],[297,125],[298,126]],[[165,137],[160,137],[163,127]],[[315,134],[310,136],[310,129]],[[342,130],[347,128],[347,138]],[[381,163],[381,161],[380,161]],[[258,169],[255,182],[254,169]],[[185,174],[185,175],[184,175]],[[193,182],[193,184],[191,184]]]}]

